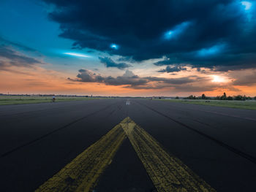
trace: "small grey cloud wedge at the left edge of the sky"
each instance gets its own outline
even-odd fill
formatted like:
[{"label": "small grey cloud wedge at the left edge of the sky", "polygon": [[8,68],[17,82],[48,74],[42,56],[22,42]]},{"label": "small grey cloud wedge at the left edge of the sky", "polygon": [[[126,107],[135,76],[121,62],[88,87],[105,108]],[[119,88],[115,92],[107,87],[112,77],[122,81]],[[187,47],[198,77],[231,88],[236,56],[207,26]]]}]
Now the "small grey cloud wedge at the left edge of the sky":
[{"label": "small grey cloud wedge at the left edge of the sky", "polygon": [[34,66],[35,64],[42,64],[35,58],[18,53],[12,48],[0,45],[0,69],[6,69],[10,66]]}]

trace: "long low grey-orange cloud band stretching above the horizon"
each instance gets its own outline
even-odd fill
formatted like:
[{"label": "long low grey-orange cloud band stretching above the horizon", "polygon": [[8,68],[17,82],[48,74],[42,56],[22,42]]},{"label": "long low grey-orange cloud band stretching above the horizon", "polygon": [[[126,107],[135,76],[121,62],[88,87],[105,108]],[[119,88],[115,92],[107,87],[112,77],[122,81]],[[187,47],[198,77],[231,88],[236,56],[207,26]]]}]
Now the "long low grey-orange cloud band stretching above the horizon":
[{"label": "long low grey-orange cloud band stretching above the horizon", "polygon": [[[102,76],[96,74],[88,69],[80,69],[78,71],[77,79],[68,78],[73,82],[97,82],[105,85],[123,86],[124,88],[132,89],[162,89],[170,88],[173,91],[181,92],[201,92],[201,91],[214,91],[218,88],[226,88],[229,91],[239,91],[238,88],[233,85],[244,85],[246,82],[246,74],[241,76],[241,79],[237,78],[231,82],[213,82],[211,77],[199,77],[197,75],[190,75],[187,77],[140,77],[134,74],[132,71],[126,70],[123,75],[118,77]],[[251,75],[256,74],[251,72]],[[236,77],[237,74],[233,74]],[[256,83],[254,78],[252,84]]]}]

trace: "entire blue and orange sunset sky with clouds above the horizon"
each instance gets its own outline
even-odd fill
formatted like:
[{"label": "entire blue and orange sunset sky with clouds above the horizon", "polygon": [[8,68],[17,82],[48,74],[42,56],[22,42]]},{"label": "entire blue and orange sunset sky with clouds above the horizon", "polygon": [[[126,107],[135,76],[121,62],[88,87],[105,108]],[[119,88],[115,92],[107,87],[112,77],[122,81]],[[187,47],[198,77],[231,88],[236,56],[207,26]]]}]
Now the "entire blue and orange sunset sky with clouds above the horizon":
[{"label": "entire blue and orange sunset sky with clouds above the horizon", "polygon": [[256,1],[1,0],[0,93],[256,96]]}]

